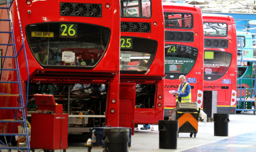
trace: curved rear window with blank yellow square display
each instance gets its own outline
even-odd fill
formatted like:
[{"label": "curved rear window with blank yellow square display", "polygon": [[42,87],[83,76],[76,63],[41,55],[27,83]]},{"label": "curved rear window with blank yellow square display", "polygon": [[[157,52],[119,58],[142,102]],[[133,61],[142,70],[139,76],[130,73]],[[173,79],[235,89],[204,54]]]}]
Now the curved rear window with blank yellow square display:
[{"label": "curved rear window with blank yellow square display", "polygon": [[221,51],[205,51],[204,75],[223,76],[230,67],[231,53]]}]

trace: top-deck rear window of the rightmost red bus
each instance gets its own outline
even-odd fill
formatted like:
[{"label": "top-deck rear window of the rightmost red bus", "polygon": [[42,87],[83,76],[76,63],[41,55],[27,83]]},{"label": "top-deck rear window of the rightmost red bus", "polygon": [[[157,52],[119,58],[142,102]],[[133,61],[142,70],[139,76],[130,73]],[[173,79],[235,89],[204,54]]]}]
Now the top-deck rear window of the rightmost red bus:
[{"label": "top-deck rear window of the rightmost red bus", "polygon": [[226,23],[203,23],[203,32],[205,36],[226,37],[228,28]]}]

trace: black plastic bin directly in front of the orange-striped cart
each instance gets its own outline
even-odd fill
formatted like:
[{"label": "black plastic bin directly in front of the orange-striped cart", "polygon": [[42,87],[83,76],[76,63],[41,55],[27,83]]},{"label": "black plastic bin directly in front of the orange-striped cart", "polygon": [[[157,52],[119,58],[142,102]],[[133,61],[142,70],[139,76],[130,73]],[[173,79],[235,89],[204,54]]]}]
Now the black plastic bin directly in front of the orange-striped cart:
[{"label": "black plastic bin directly in front of the orange-striped cart", "polygon": [[177,149],[178,121],[159,120],[159,148]]}]

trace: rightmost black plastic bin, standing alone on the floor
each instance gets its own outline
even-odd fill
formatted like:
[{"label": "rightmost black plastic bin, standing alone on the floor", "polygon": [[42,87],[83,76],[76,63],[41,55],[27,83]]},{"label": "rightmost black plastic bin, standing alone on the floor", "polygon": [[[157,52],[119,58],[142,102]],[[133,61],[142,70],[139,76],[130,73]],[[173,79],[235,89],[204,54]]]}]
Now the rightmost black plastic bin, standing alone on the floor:
[{"label": "rightmost black plastic bin, standing alone on the floor", "polygon": [[213,113],[214,136],[228,136],[229,113]]}]

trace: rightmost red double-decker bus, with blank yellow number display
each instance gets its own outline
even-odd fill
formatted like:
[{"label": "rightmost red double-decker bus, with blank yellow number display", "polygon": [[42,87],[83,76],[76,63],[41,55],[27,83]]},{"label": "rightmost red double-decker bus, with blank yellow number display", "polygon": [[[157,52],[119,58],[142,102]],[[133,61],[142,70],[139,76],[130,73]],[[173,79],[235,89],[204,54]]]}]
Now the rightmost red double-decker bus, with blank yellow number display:
[{"label": "rightmost red double-decker bus, with blank yellow number display", "polygon": [[213,113],[236,112],[237,40],[232,16],[203,14],[204,81],[203,109]]}]

